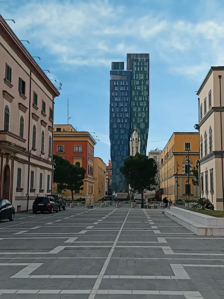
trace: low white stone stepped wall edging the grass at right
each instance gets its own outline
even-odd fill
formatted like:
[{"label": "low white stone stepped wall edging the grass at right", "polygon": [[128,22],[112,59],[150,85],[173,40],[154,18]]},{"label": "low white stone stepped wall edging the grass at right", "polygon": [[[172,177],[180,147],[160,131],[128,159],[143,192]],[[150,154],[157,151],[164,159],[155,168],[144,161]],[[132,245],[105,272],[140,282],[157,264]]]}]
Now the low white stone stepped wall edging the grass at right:
[{"label": "low white stone stepped wall edging the grass at right", "polygon": [[224,218],[171,207],[165,215],[199,236],[224,236]]}]

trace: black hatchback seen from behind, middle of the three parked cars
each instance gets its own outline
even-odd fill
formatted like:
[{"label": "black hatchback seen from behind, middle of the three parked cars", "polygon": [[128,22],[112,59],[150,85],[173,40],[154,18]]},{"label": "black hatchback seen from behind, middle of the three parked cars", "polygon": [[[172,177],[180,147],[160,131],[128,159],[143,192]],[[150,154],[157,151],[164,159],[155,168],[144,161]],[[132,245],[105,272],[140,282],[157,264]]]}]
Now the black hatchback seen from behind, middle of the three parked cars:
[{"label": "black hatchback seen from behind, middle of the three parked cars", "polygon": [[59,205],[56,202],[54,202],[53,197],[36,197],[36,199],[33,202],[33,214],[36,214],[37,212],[48,212],[52,214],[53,211],[55,211],[56,213],[58,213],[59,211]]}]

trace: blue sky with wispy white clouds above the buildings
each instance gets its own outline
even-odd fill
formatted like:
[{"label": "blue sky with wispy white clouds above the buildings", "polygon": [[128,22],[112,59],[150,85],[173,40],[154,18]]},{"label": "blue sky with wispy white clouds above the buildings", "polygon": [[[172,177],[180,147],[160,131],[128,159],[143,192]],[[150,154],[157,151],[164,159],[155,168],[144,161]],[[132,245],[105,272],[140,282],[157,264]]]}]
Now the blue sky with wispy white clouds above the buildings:
[{"label": "blue sky with wispy white clouds above the buildings", "polygon": [[[55,123],[95,132],[107,163],[111,61],[150,54],[147,151],[173,132],[194,132],[195,91],[211,65],[224,65],[224,2],[200,0],[0,0],[0,13],[50,79],[62,83]],[[94,135],[94,134],[93,134]]]}]

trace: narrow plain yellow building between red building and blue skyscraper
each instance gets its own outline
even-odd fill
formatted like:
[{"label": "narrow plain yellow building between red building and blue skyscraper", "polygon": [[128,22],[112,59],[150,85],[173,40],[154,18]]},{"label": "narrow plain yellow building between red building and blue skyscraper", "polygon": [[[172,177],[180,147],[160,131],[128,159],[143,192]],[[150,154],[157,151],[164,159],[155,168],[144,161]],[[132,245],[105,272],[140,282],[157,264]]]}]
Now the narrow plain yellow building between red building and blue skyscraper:
[{"label": "narrow plain yellow building between red building and blue skyscraper", "polygon": [[94,201],[106,195],[106,164],[99,157],[94,157],[93,176],[94,182]]}]

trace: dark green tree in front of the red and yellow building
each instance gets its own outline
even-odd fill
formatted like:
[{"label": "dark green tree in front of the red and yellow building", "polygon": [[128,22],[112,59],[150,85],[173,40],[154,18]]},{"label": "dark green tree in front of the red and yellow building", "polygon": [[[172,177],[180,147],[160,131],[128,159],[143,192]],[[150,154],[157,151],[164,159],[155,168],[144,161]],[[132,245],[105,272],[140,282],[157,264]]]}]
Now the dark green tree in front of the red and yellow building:
[{"label": "dark green tree in front of the red and yellow building", "polygon": [[58,184],[61,190],[70,190],[73,200],[73,191],[83,190],[83,180],[85,179],[85,169],[63,159],[58,155],[53,155],[55,170],[53,182]]}]

